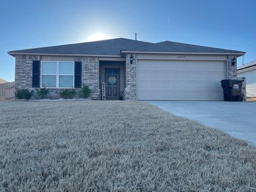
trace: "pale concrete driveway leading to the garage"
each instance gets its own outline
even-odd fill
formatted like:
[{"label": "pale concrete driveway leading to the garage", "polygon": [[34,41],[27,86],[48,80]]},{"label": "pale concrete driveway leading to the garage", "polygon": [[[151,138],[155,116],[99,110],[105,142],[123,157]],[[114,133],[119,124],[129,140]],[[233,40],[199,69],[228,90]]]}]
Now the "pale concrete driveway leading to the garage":
[{"label": "pale concrete driveway leading to the garage", "polygon": [[256,145],[256,102],[146,101]]}]

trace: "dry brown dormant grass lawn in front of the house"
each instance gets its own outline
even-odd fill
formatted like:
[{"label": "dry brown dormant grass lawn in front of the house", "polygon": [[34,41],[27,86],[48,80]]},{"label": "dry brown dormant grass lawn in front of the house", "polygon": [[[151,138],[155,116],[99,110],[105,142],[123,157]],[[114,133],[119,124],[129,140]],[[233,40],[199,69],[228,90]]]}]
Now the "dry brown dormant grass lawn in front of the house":
[{"label": "dry brown dormant grass lawn in front of the house", "polygon": [[143,102],[2,102],[0,146],[0,191],[256,190],[256,147]]}]

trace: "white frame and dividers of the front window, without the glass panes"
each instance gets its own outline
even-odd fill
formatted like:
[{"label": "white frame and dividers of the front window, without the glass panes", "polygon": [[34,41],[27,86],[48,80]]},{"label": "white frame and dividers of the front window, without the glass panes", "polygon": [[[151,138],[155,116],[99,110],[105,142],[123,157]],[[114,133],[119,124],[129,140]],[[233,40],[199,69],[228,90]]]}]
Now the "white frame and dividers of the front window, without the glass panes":
[{"label": "white frame and dividers of the front window, without the glass panes", "polygon": [[[42,73],[43,62],[55,62],[56,63],[56,74],[43,74]],[[72,74],[60,74],[60,71],[59,71],[60,63],[73,63],[73,73]],[[56,87],[46,87],[46,88],[74,89],[74,87],[75,87],[75,62],[74,61],[41,61],[41,63],[40,63],[40,88],[43,88],[42,87],[42,76],[43,75],[56,76]],[[60,76],[73,76],[73,87],[60,87],[60,85],[59,85]]]}]

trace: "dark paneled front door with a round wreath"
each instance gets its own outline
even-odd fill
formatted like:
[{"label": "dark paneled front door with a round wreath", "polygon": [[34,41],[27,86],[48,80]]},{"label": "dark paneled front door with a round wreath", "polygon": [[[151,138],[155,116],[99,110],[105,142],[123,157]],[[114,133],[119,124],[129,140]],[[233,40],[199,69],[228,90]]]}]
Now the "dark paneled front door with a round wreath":
[{"label": "dark paneled front door with a round wreath", "polygon": [[106,99],[119,99],[120,70],[105,69]]}]

